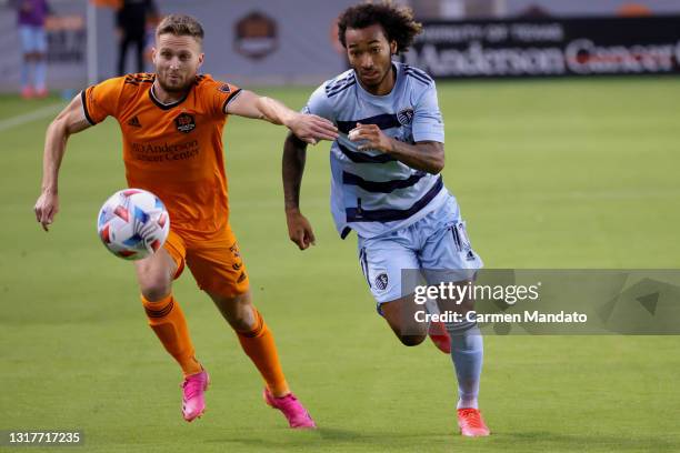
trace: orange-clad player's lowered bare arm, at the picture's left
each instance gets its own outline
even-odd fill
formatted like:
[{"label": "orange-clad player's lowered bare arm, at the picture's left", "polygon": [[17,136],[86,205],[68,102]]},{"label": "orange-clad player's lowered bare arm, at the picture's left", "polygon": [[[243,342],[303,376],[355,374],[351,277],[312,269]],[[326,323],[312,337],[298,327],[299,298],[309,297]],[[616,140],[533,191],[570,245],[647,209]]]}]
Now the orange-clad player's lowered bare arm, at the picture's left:
[{"label": "orange-clad player's lowered bare arm, at the picture's left", "polygon": [[48,226],[59,211],[59,167],[66,152],[67,141],[71,134],[86,130],[90,125],[79,94],[48,127],[42,157],[41,193],[33,208],[36,220],[40,222],[44,231],[48,231]]}]

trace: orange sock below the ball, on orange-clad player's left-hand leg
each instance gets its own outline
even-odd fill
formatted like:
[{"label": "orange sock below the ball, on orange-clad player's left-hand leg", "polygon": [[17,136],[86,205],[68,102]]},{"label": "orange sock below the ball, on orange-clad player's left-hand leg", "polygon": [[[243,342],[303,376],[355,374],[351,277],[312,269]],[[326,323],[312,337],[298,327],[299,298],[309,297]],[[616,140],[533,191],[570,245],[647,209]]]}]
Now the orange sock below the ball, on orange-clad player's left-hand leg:
[{"label": "orange sock below the ball, on orange-clad player's left-hand leg", "polygon": [[172,294],[156,302],[148,301],[143,295],[141,300],[149,325],[163,343],[166,351],[180,364],[184,375],[200,373],[202,366],[196,360],[184,313]]}]

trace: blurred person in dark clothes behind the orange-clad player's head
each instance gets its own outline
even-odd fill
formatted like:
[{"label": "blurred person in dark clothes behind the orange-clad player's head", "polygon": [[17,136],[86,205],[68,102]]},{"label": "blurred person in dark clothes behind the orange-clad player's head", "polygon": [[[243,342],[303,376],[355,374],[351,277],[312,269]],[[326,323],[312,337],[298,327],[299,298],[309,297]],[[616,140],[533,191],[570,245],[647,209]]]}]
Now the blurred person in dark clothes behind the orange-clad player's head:
[{"label": "blurred person in dark clothes behind the orange-clad player's head", "polygon": [[158,16],[153,0],[123,0],[116,16],[119,33],[118,74],[126,73],[128,48],[134,46],[137,71],[144,71],[144,38],[147,21]]}]

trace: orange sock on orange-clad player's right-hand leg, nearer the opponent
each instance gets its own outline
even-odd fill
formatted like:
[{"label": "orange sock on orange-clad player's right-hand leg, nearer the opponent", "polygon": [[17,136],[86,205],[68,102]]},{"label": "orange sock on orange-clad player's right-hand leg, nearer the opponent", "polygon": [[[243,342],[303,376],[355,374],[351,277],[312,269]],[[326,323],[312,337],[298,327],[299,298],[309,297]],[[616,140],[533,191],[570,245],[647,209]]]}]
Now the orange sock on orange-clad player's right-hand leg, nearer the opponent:
[{"label": "orange sock on orange-clad player's right-hand leg, nearer the opponent", "polygon": [[237,332],[241,348],[258,368],[269,391],[277,397],[290,393],[281,370],[273,335],[258,309],[253,308],[256,325],[250,332]]}]

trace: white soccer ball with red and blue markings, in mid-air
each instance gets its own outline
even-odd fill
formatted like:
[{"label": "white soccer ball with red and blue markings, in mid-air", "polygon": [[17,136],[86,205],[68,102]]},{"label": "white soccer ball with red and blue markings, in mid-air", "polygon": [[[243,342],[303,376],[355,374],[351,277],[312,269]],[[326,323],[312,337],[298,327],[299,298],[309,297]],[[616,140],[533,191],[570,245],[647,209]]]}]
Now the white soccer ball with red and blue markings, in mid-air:
[{"label": "white soccer ball with red and blue markings, in mid-air", "polygon": [[116,256],[141,260],[160,249],[170,232],[170,215],[158,197],[126,189],[109,198],[97,218],[101,242]]}]

